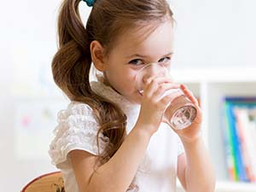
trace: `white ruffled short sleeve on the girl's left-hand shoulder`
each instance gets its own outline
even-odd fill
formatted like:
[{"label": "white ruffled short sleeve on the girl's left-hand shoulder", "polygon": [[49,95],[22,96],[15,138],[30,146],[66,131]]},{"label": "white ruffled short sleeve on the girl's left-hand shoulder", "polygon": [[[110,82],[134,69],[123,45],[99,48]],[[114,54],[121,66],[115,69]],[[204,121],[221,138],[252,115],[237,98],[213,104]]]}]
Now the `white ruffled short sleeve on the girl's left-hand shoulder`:
[{"label": "white ruffled short sleeve on the girl's left-hand shoulder", "polygon": [[93,110],[84,103],[71,102],[67,109],[58,113],[55,138],[49,145],[49,156],[54,165],[67,160],[67,154],[74,150],[84,150],[90,154],[101,154],[108,145],[108,137],[99,134],[99,148],[96,135],[99,125]]}]

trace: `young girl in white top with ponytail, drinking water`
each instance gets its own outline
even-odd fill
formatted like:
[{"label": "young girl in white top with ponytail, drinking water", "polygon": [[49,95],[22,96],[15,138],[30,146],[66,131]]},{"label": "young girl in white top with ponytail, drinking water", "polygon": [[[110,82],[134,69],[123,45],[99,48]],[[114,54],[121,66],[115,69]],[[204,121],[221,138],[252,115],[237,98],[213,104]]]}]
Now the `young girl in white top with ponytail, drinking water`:
[{"label": "young girl in white top with ponytail, drinking water", "polygon": [[[174,192],[177,177],[186,191],[212,192],[195,96],[170,78],[148,78],[143,95],[134,86],[148,63],[170,67],[173,18],[166,0],[84,0],[92,7],[86,27],[79,3],[61,5],[52,61],[55,83],[71,100],[58,114],[49,148],[66,192]],[[89,79],[92,63],[102,74],[96,81]],[[177,88],[197,108],[181,131],[162,122],[172,94],[162,95]]]}]

